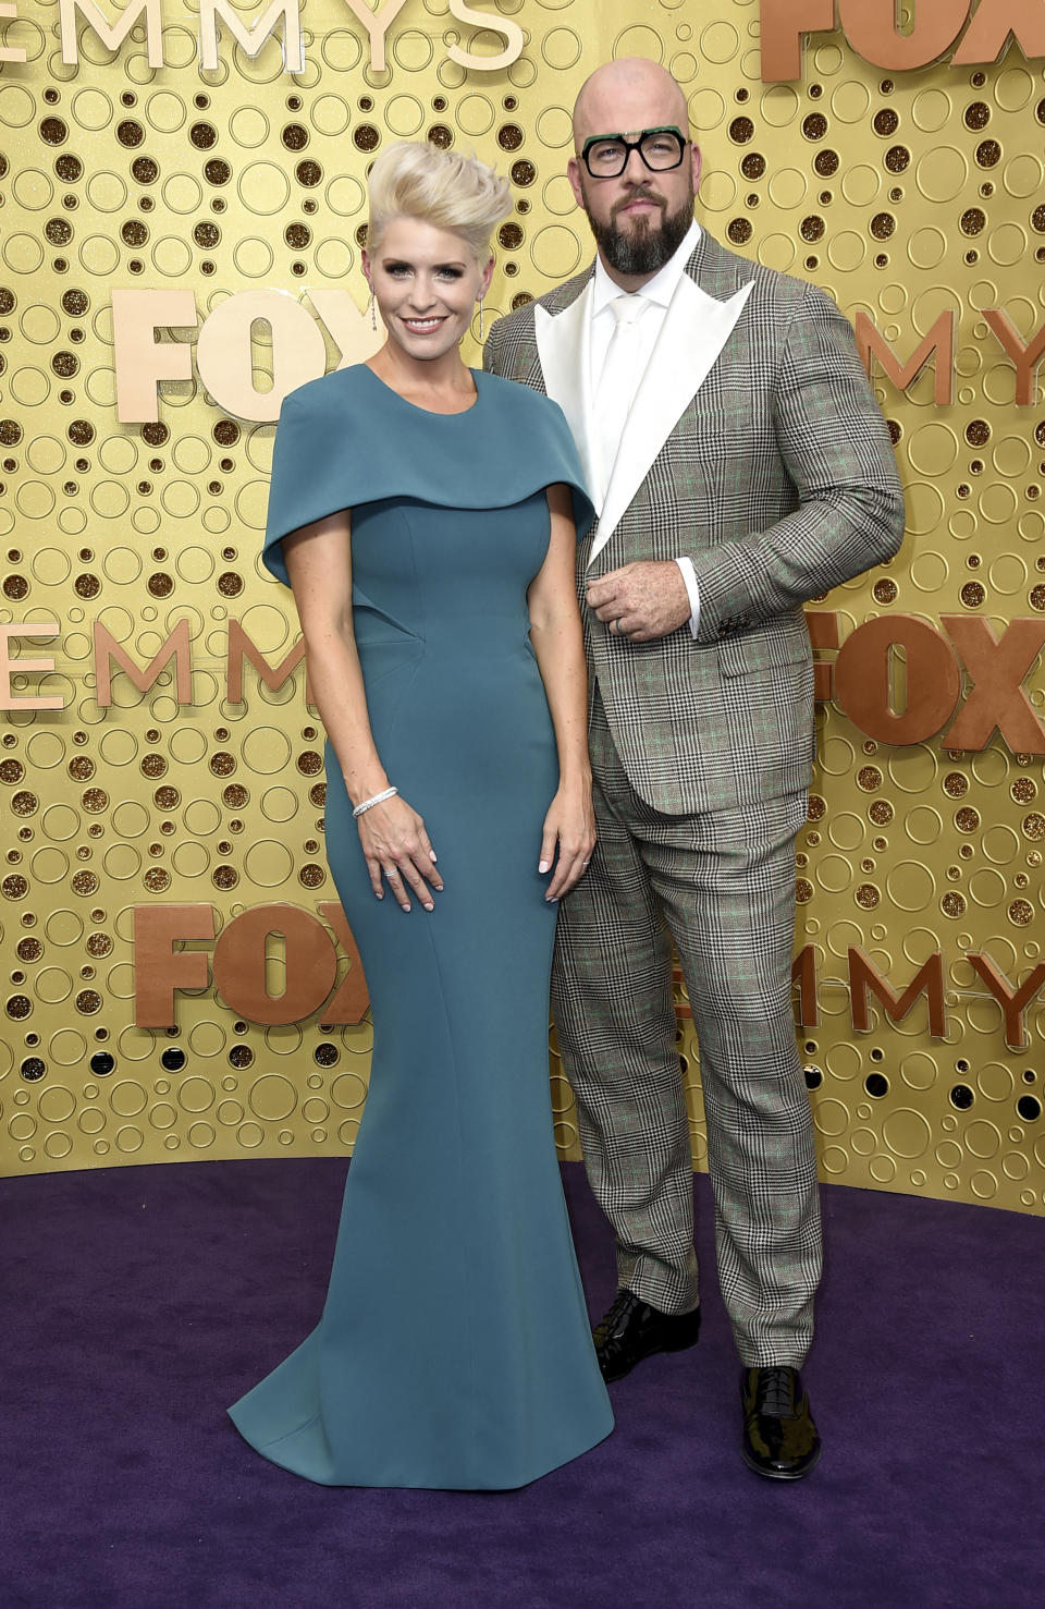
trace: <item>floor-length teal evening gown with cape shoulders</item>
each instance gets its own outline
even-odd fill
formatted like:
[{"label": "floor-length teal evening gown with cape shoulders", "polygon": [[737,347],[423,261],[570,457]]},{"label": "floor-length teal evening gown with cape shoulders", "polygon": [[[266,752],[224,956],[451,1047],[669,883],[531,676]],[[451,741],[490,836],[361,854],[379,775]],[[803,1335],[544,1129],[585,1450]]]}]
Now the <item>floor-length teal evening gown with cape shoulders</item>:
[{"label": "floor-length teal evening gown with cape shoulders", "polygon": [[424,817],[436,909],[375,899],[336,756],[326,850],[370,986],[375,1052],[323,1316],[232,1409],[325,1485],[521,1487],[613,1429],[548,1091],[556,909],[537,872],[558,761],[529,644],[545,488],[592,507],[555,402],[476,373],[429,414],[365,365],[283,404],[265,565],[352,510],[352,600],[375,742]]}]

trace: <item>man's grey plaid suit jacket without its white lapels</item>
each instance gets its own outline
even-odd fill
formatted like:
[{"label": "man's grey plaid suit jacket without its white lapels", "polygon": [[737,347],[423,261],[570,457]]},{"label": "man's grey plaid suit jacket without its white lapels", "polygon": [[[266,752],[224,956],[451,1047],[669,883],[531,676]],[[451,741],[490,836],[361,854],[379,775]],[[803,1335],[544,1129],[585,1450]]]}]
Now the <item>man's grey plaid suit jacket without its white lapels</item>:
[{"label": "man's grey plaid suit jacket without its white lapels", "polygon": [[[592,272],[540,306],[561,314]],[[696,639],[685,624],[632,644],[584,607],[598,528],[579,544],[577,566],[588,666],[614,743],[635,792],[666,814],[809,785],[815,729],[802,605],[891,558],[904,536],[889,433],[831,298],[727,251],[706,230],[686,274],[719,302],[751,291],[590,574],[688,555],[701,600]],[[686,359],[677,352],[677,364]],[[547,391],[534,304],[494,325],[484,367]]]}]

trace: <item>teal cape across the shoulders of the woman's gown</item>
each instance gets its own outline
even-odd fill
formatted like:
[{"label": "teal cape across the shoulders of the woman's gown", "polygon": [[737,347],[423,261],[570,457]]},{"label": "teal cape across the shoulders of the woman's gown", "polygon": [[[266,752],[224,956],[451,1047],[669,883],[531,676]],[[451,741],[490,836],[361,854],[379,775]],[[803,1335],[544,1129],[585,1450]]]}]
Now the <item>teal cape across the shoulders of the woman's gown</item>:
[{"label": "teal cape across the shoulders of the woman's gown", "polygon": [[577,536],[595,518],[558,402],[476,372],[476,404],[428,414],[363,365],[291,391],[280,410],[262,563],[289,586],[283,537],[359,504],[410,497],[444,508],[506,508],[561,481]]}]

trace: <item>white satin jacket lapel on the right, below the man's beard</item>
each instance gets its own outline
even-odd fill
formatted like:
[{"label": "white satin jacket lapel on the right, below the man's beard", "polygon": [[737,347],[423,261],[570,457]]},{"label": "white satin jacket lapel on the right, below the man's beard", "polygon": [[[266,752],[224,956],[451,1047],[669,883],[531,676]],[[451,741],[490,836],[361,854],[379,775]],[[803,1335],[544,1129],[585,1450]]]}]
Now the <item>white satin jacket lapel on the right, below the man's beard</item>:
[{"label": "white satin jacket lapel on the right, below the man's beard", "polygon": [[683,409],[707,380],[752,290],[748,283],[720,302],[688,274],[678,280],[624,426],[588,565],[601,553]]}]

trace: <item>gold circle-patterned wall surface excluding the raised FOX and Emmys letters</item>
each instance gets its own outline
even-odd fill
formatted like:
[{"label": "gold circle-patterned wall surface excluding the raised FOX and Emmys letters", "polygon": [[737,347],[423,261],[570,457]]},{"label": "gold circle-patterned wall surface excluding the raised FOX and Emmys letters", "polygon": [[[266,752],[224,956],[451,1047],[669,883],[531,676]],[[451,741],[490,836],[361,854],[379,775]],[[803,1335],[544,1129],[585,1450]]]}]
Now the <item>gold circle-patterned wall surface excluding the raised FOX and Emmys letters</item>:
[{"label": "gold circle-patterned wall surface excluding the raised FOX and Emmys letters", "polygon": [[[426,0],[392,23],[379,72],[346,8],[309,0],[305,71],[291,76],[277,40],[256,60],[223,50],[217,72],[198,74],[198,11],[185,5],[164,27],[162,79],[140,50],[101,51],[84,31],[79,68],[40,61],[0,82],[0,618],[63,623],[58,642],[32,642],[53,652],[55,673],[16,674],[13,692],[69,700],[61,721],[23,710],[3,726],[0,811],[18,850],[0,917],[5,938],[40,948],[19,948],[24,981],[5,994],[14,1049],[0,1084],[27,1099],[5,1101],[0,1168],[336,1154],[352,1144],[368,1076],[367,1018],[328,1025],[318,1006],[297,1027],[264,1028],[212,981],[178,996],[175,1030],[132,1027],[135,907],[212,907],[217,936],[257,904],[317,914],[333,893],[312,758],[322,737],[301,673],[268,689],[246,665],[243,698],[230,703],[225,687],[230,619],[270,663],[297,631],[256,558],[272,426],[220,415],[196,380],[161,386],[156,425],[119,425],[113,283],[193,286],[201,320],[257,288],[347,291],[362,311],[367,163],[429,130],[513,180],[489,320],[590,261],[563,179],[569,108],[598,61],[653,56],[690,98],[714,233],[823,283],[849,314],[870,312],[897,352],[957,315],[953,404],[932,407],[931,364],[905,393],[875,373],[908,541],[886,573],[813,611],[836,611],[842,639],[889,613],[997,628],[1045,611],[1045,407],[1014,407],[1013,367],[982,320],[1005,307],[1022,339],[1042,322],[1031,267],[1045,254],[1040,72],[1005,58],[977,82],[947,63],[884,80],[836,34],[810,40],[801,82],[770,87],[754,10],[723,0],[707,19],[658,0],[622,23],[595,0],[522,0],[502,6],[524,29],[522,55],[487,74],[452,63],[447,45],[482,51],[500,35],[452,27],[445,5]],[[333,365],[330,330],[323,339]],[[259,338],[256,385],[272,383],[272,365]],[[188,621],[193,703],[177,703],[167,666],[145,693],[116,674],[101,706],[95,621],[138,663]],[[1045,698],[1032,698],[1040,714]],[[990,954],[1013,986],[1040,962],[1042,758],[1010,753],[997,734],[979,755],[947,755],[939,739],[889,750],[833,702],[820,724],[799,843],[799,944],[817,962],[818,1020],[799,1033],[823,1175],[1042,1212],[1039,1070],[1029,1049],[1005,1044],[1000,1009],[965,959]],[[871,1031],[854,1035],[854,948],[894,993],[942,949],[944,1038],[926,1031],[924,998],[897,1022],[871,999]],[[341,951],[338,969],[341,980]],[[703,1163],[682,985],[678,1009]],[[1031,1043],[1040,1031],[1032,1004]],[[556,1136],[576,1157],[551,1044]],[[1002,1139],[1010,1126],[1018,1139]]]}]

